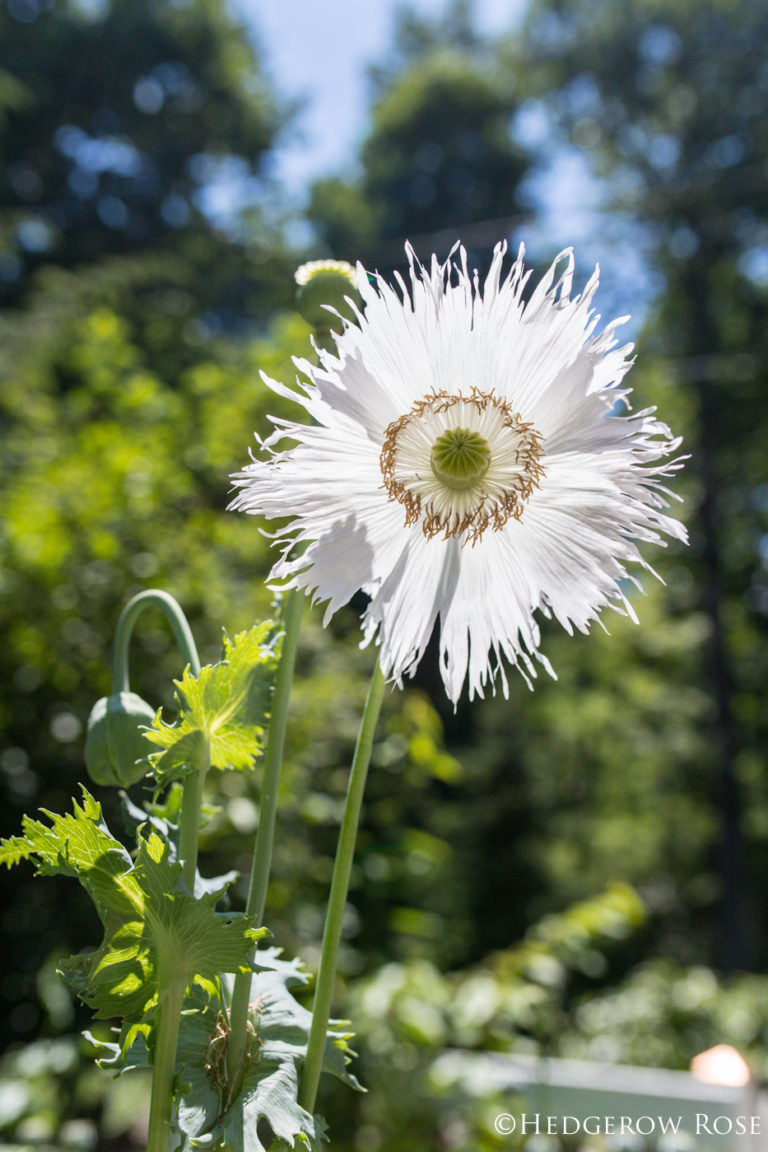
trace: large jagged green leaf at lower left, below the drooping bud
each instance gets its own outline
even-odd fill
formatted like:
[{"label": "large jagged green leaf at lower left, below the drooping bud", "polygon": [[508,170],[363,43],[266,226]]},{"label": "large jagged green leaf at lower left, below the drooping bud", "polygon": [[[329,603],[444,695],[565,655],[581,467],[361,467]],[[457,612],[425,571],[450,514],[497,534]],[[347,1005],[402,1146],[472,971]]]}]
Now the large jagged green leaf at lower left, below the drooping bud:
[{"label": "large jagged green leaf at lower left, below the drooping bud", "polygon": [[16,840],[38,872],[76,877],[97,907],[100,947],[64,961],[61,971],[98,1018],[143,1020],[161,986],[197,983],[208,994],[219,972],[251,971],[251,948],[266,930],[238,914],[218,914],[221,889],[199,899],[183,889],[181,864],[157,832],[139,838],[132,862],[85,789],[71,814],[45,814],[50,826],[26,817]]}]

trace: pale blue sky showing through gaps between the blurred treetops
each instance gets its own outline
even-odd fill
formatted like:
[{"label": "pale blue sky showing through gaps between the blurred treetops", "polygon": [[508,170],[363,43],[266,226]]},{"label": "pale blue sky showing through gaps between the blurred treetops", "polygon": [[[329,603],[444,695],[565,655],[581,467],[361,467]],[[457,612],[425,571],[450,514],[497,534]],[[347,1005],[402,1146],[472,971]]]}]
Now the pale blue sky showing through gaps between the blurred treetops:
[{"label": "pale blue sky showing through gaps between the blurred treetops", "polygon": [[[440,16],[448,0],[229,2],[251,28],[273,89],[284,99],[304,101],[277,149],[273,169],[286,199],[301,209],[312,180],[353,172],[368,122],[366,69],[386,61],[396,10],[410,7],[425,16]],[[474,24],[488,35],[514,31],[525,8],[526,0],[474,0]],[[546,124],[537,127],[540,119],[535,109],[527,116],[530,144],[535,144],[541,131],[548,136]],[[534,195],[539,219],[524,237],[531,257],[550,259],[558,249],[573,245],[579,281],[600,262],[604,272],[601,303],[613,314],[634,313],[626,329],[628,335],[634,334],[654,287],[634,229],[616,219],[613,229],[607,229],[601,190],[590,180],[584,159],[572,150],[554,153],[549,170],[534,183]],[[307,229],[299,223],[292,238],[306,242]]]}]

